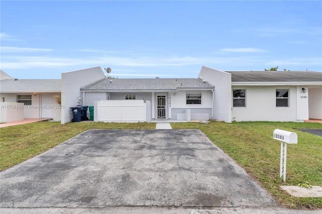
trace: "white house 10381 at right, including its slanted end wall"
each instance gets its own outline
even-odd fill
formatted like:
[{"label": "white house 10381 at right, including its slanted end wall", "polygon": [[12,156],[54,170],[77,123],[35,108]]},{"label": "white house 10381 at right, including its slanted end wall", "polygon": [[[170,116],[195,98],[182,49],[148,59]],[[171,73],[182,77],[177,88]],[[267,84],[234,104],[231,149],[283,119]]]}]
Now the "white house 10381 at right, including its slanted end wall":
[{"label": "white house 10381 at right, including its slanted end wall", "polygon": [[313,71],[219,71],[199,77],[215,86],[214,119],[231,121],[322,120],[322,73]]}]

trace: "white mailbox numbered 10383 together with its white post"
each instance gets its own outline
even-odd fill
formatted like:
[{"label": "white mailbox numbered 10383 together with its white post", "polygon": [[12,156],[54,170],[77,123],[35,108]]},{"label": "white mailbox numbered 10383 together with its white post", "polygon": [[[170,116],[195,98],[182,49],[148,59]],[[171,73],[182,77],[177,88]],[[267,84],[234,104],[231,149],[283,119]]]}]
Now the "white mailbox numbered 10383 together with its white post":
[{"label": "white mailbox numbered 10383 together with its white post", "polygon": [[275,129],[273,135],[273,139],[281,141],[280,177],[283,176],[285,182],[287,144],[297,144],[297,135],[295,132],[288,132],[280,129]]}]

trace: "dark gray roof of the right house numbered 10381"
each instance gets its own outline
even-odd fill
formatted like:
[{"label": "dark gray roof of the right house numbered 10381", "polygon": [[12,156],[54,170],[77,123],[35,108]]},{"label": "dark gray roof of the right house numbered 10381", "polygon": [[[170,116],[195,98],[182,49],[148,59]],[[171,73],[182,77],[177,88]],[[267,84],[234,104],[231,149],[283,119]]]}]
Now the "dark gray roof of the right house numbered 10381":
[{"label": "dark gray roof of the right house numbered 10381", "polygon": [[316,82],[322,72],[315,71],[225,71],[232,82]]}]

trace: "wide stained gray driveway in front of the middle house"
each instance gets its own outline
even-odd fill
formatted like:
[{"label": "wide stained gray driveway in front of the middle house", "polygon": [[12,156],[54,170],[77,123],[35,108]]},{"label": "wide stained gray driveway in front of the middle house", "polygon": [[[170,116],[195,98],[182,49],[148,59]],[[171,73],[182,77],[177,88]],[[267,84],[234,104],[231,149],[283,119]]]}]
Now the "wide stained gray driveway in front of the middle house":
[{"label": "wide stained gray driveway in front of the middle house", "polygon": [[89,130],[0,175],[1,207],[276,205],[199,130]]}]

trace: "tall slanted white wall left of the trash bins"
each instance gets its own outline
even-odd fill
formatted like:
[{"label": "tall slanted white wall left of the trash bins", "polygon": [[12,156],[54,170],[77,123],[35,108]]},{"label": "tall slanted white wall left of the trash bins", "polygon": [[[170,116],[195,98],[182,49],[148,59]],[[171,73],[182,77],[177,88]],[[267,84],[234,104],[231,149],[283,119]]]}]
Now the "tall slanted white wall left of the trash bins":
[{"label": "tall slanted white wall left of the trash bins", "polygon": [[61,103],[65,106],[61,111],[61,124],[71,121],[72,115],[70,107],[82,103],[77,103],[77,97],[83,99],[81,87],[104,77],[105,75],[101,67],[70,71],[61,74]]}]

